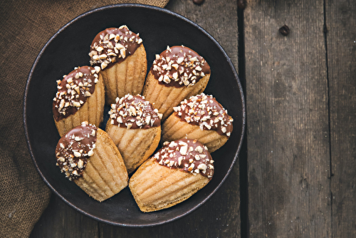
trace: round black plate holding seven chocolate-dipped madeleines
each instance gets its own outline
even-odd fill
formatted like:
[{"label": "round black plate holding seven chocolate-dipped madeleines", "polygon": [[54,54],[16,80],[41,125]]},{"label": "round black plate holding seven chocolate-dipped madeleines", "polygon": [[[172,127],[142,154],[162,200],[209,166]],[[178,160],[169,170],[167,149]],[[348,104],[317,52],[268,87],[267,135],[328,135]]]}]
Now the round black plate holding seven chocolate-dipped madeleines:
[{"label": "round black plate holding seven chocolate-dipped madeleines", "polygon": [[[89,63],[88,51],[94,36],[108,27],[127,25],[140,33],[147,51],[148,68],[156,53],[167,46],[184,45],[197,51],[211,66],[211,78],[205,93],[212,94],[234,118],[234,131],[223,148],[212,154],[215,174],[206,187],[169,209],[142,213],[130,190],[96,202],[61,174],[55,165],[59,140],[52,116],[56,80],[75,66]],[[211,197],[229,175],[241,148],[245,107],[239,77],[219,43],[192,21],[166,9],[140,4],[105,6],[78,16],[63,26],[42,48],[28,76],[23,105],[23,121],[33,162],[51,190],[68,205],[100,222],[127,226],[154,226],[178,219]]]}]

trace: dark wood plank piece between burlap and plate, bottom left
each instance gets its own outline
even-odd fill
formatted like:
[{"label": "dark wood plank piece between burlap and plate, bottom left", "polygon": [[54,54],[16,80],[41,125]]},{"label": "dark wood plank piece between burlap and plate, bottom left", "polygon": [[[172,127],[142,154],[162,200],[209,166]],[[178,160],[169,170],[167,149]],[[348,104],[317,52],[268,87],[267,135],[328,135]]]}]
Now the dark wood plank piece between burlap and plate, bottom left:
[{"label": "dark wood plank piece between burlap and plate, bottom left", "polygon": [[30,237],[95,238],[99,237],[98,229],[98,222],[75,211],[53,194]]}]

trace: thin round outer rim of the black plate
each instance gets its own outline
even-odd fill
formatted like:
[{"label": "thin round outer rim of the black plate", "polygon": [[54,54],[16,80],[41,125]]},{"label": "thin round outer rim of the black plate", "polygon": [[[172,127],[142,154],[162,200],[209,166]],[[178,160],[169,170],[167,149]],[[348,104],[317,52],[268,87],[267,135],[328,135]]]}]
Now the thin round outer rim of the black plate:
[{"label": "thin round outer rim of the black plate", "polygon": [[[115,9],[115,8],[122,8],[122,7],[125,7],[125,8],[143,8],[143,9],[151,9],[151,10],[154,10],[154,11],[160,11],[160,12],[163,12],[164,14],[169,14],[171,16],[174,16],[176,17],[177,19],[180,19],[182,21],[186,21],[188,24],[192,24],[194,27],[196,27],[197,29],[199,29],[199,31],[201,31],[202,33],[204,33],[204,35],[206,35],[208,38],[211,39],[211,41],[213,41],[216,46],[218,46],[219,50],[224,54],[225,58],[226,58],[226,61],[229,63],[229,66],[231,67],[231,70],[233,71],[234,73],[234,76],[235,76],[235,80],[236,80],[236,83],[238,84],[239,86],[239,91],[240,91],[240,95],[241,95],[241,105],[242,105],[242,114],[243,114],[243,118],[242,118],[242,125],[241,125],[241,137],[240,137],[240,142],[239,142],[239,147],[238,149],[236,150],[236,153],[234,155],[234,160],[231,162],[231,165],[229,167],[229,170],[226,172],[226,175],[223,177],[223,179],[221,180],[221,182],[219,182],[219,185],[216,186],[216,188],[214,190],[212,190],[211,193],[209,193],[209,195],[207,195],[204,200],[202,200],[201,202],[199,202],[197,205],[195,205],[194,207],[192,207],[191,209],[187,210],[186,212],[184,212],[183,214],[179,215],[179,216],[176,216],[176,217],[173,217],[171,219],[167,219],[163,222],[155,222],[155,223],[152,223],[152,224],[122,224],[122,223],[118,223],[118,222],[112,222],[108,219],[103,219],[103,218],[99,218],[99,217],[95,217],[93,216],[92,214],[88,213],[88,212],[85,212],[83,209],[79,209],[78,207],[76,207],[75,205],[73,205],[71,202],[69,202],[68,200],[66,200],[65,197],[63,197],[61,194],[59,194],[55,189],[54,187],[52,187],[52,185],[46,180],[46,177],[44,177],[43,173],[41,172],[41,170],[39,169],[38,165],[37,165],[37,162],[36,162],[36,159],[33,155],[33,151],[32,151],[32,147],[31,147],[31,143],[29,141],[29,135],[28,135],[28,124],[27,124],[27,120],[26,120],[26,105],[27,105],[27,95],[28,95],[28,87],[31,83],[31,78],[33,76],[33,71],[35,71],[35,68],[37,66],[37,63],[39,61],[39,59],[41,58],[42,54],[44,51],[46,51],[46,48],[48,47],[48,45],[53,41],[54,38],[56,38],[56,36],[58,36],[59,33],[61,33],[62,31],[64,31],[68,26],[70,26],[71,24],[73,24],[75,21],[78,21],[79,19],[82,19],[83,17],[85,16],[88,16],[90,14],[93,14],[95,12],[98,12],[98,11],[105,11],[106,9]],[[145,4],[112,4],[112,5],[108,5],[108,6],[102,6],[102,7],[99,7],[97,9],[92,9],[90,11],[87,11],[83,14],[80,14],[79,16],[75,17],[73,20],[69,21],[67,24],[65,24],[64,26],[61,27],[61,29],[59,29],[47,42],[46,44],[43,46],[43,48],[41,49],[40,53],[38,53],[38,56],[36,57],[36,60],[34,61],[33,63],[33,66],[31,68],[31,71],[30,73],[28,74],[28,78],[27,78],[27,81],[26,81],[26,87],[25,87],[25,90],[24,90],[24,94],[23,94],[23,128],[24,128],[24,132],[25,132],[25,137],[26,137],[26,143],[27,143],[27,146],[28,146],[28,151],[30,153],[30,156],[31,156],[31,159],[33,161],[33,164],[35,165],[36,167],[36,170],[38,171],[39,175],[41,175],[41,178],[43,179],[43,181],[46,183],[46,185],[48,187],[50,187],[50,189],[52,190],[52,192],[54,192],[58,197],[61,197],[61,199],[66,202],[67,205],[69,205],[70,207],[73,207],[73,209],[75,209],[76,211],[82,213],[82,214],[85,214],[86,216],[92,218],[92,219],[95,219],[97,220],[98,222],[105,222],[107,224],[111,224],[111,225],[115,225],[115,226],[121,226],[121,227],[155,227],[159,224],[166,224],[168,222],[172,222],[174,220],[177,220],[179,218],[182,218],[184,216],[186,216],[187,214],[190,214],[191,212],[193,212],[195,209],[197,209],[198,207],[200,207],[201,205],[204,204],[204,202],[206,202],[207,200],[210,199],[210,197],[212,195],[214,195],[216,193],[217,190],[219,190],[219,188],[221,187],[221,185],[225,182],[226,180],[226,177],[229,176],[232,168],[234,167],[235,163],[236,163],[236,160],[237,158],[239,157],[239,152],[241,151],[241,146],[242,146],[242,143],[243,143],[243,140],[244,140],[244,135],[245,135],[245,129],[246,129],[246,105],[245,105],[245,98],[244,98],[244,91],[242,89],[242,86],[241,86],[241,82],[239,80],[239,76],[236,72],[236,69],[234,68],[234,65],[233,63],[231,62],[231,59],[229,58],[229,56],[227,55],[227,53],[224,51],[224,48],[221,47],[221,45],[215,40],[215,38],[213,38],[207,31],[205,31],[203,28],[201,28],[201,26],[199,26],[198,24],[194,23],[193,21],[187,19],[186,17],[180,15],[180,14],[177,14],[173,11],[170,11],[168,9],[163,9],[163,8],[159,8],[157,6],[150,6],[150,5],[145,5]]]}]

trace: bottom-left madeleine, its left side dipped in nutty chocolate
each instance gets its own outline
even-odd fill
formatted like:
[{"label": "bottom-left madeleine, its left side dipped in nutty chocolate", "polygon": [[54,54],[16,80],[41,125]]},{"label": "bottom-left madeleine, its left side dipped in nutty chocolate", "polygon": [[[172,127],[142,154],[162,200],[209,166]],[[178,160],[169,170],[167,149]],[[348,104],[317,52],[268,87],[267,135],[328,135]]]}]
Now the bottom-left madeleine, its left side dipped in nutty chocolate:
[{"label": "bottom-left madeleine, its left side dipped in nutty chocolate", "polygon": [[103,130],[88,122],[58,141],[56,159],[61,172],[99,202],[127,186],[128,175],[120,152]]}]

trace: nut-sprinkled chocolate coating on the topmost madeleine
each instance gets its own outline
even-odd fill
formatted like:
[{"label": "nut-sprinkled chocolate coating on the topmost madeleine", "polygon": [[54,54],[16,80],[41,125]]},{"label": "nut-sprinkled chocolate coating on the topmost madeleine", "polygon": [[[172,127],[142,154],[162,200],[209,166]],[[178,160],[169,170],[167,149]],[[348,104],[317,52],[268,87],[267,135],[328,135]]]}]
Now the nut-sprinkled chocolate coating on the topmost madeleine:
[{"label": "nut-sprinkled chocolate coating on the topmost madeleine", "polygon": [[138,34],[130,31],[127,26],[105,29],[91,43],[90,65],[99,66],[101,70],[110,68],[113,63],[120,63],[135,53],[141,43]]}]

